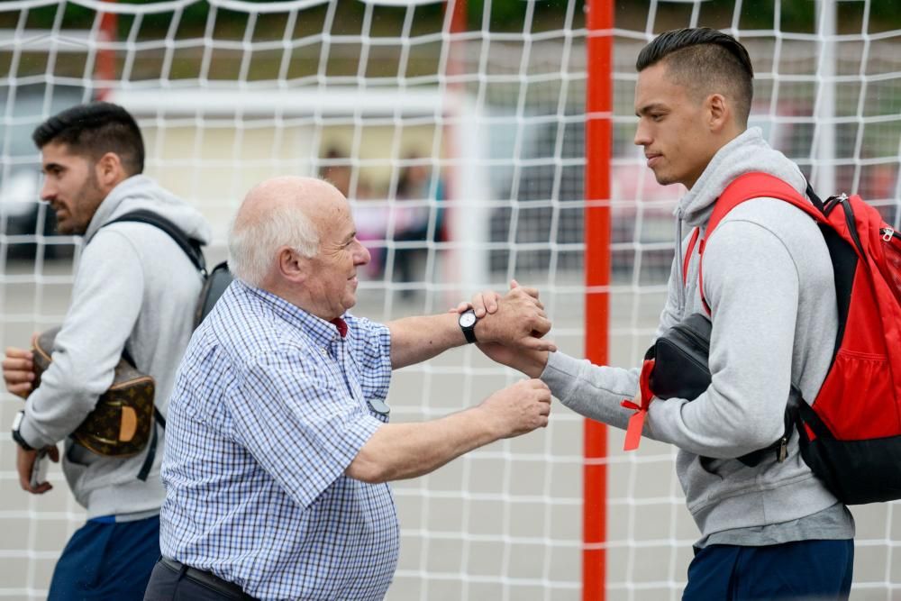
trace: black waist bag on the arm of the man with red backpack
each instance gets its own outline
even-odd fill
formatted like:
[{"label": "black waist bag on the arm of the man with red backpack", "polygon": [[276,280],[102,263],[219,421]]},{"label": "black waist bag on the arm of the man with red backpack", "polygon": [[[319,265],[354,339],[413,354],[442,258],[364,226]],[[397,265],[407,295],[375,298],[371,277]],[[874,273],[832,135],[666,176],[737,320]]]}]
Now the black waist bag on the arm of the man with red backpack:
[{"label": "black waist bag on the arm of the man with red backpack", "polygon": [[[645,360],[654,360],[649,378],[654,396],[693,400],[704,394],[711,381],[708,364],[711,329],[705,314],[690,314],[654,341],[644,353]],[[791,429],[791,416],[786,412],[785,434],[768,447],[742,455],[738,460],[752,468],[769,451],[776,451],[777,460],[784,460]]]}]

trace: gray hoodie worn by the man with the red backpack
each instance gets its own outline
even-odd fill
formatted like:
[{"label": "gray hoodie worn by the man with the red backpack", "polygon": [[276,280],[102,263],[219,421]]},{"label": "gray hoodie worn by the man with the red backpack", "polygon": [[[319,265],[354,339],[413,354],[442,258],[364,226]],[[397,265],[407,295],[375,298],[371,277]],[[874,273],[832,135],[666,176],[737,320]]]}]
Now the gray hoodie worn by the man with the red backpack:
[{"label": "gray hoodie worn by the man with the red backpack", "polygon": [[[704,313],[697,251],[688,263],[687,285],[682,284],[687,244],[682,223],[687,233],[700,227],[703,235],[716,198],[749,171],[805,190],[796,165],[771,149],[757,128],[720,149],[678,203],[679,244],[658,336],[683,317]],[[679,449],[678,478],[703,535],[699,544],[787,542],[813,532],[817,538],[851,538],[851,514],[806,466],[796,433],[783,463],[775,453],[754,468],[735,459],[781,436],[792,382],[808,400],[823,384],[837,329],[823,235],[810,217],[784,201],[750,200],[733,209],[707,241],[704,290],[712,310],[712,384],[695,399],[655,399],[644,426],[645,436]],[[564,405],[624,428],[633,412],[620,402],[635,395],[638,376],[638,369],[598,367],[556,352],[542,379]]]}]

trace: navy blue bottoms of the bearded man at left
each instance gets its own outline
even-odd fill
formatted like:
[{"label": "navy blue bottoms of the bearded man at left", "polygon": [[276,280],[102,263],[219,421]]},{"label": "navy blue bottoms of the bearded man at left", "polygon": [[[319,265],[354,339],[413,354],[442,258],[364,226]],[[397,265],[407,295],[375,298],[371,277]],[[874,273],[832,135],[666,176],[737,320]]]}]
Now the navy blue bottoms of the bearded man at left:
[{"label": "navy blue bottoms of the bearded man at left", "polygon": [[79,528],[59,557],[48,601],[141,601],[159,559],[159,515]]}]

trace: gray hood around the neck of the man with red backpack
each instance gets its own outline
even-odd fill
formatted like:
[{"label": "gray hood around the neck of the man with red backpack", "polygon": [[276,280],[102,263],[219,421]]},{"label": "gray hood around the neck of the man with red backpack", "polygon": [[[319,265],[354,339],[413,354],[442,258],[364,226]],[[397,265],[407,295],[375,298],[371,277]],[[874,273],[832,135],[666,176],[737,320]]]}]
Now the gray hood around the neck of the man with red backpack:
[{"label": "gray hood around the neck of the man with red backpack", "polygon": [[690,227],[704,225],[725,187],[751,171],[769,173],[785,180],[798,192],[803,194],[805,191],[806,181],[797,165],[770,148],[759,127],[751,127],[716,151],[695,186],[679,199],[677,217]]}]

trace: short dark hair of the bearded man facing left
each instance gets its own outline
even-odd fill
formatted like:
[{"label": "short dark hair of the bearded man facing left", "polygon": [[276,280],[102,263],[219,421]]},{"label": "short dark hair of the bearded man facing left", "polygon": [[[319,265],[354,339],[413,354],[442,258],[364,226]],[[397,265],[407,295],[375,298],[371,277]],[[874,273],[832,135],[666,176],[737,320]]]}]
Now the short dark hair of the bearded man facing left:
[{"label": "short dark hair of the bearded man facing left", "polygon": [[141,129],[128,111],[112,103],[77,105],[55,114],[35,128],[32,140],[39,149],[51,142],[62,143],[93,159],[114,152],[128,175],[144,170]]}]

